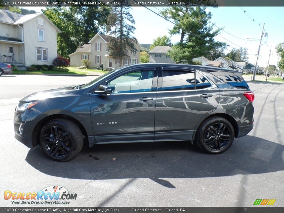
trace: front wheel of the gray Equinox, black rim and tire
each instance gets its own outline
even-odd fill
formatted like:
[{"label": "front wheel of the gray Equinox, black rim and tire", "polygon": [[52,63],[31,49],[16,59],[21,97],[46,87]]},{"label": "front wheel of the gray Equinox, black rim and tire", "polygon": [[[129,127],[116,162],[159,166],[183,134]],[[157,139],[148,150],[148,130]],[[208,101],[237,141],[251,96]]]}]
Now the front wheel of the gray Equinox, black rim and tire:
[{"label": "front wheel of the gray Equinox, black rim and tire", "polygon": [[83,147],[83,134],[80,128],[65,119],[46,123],[41,129],[39,139],[43,153],[56,161],[72,159]]}]

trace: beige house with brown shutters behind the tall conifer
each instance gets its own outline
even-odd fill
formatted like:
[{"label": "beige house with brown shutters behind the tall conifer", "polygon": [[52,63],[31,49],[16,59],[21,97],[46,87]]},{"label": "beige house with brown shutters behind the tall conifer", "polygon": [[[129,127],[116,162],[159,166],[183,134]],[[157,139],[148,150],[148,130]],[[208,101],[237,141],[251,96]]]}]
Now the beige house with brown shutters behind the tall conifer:
[{"label": "beige house with brown shutters behind the tall conifer", "polygon": [[[74,53],[70,54],[70,66],[82,66],[82,59],[89,59],[91,68],[98,68],[100,64],[104,64],[104,69],[112,69],[119,67],[119,60],[109,57],[109,43],[110,36],[97,33],[88,44],[79,47]],[[122,65],[138,64],[141,46],[135,43],[137,49],[136,53],[128,52],[128,58],[125,58]]]}]

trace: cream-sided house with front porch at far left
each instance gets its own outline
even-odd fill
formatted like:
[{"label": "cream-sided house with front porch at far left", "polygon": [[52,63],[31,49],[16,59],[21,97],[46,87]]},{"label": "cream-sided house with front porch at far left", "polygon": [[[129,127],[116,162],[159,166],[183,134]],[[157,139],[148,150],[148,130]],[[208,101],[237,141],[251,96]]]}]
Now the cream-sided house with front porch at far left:
[{"label": "cream-sided house with front porch at far left", "polygon": [[61,31],[42,13],[21,15],[0,10],[0,61],[27,66],[52,64]]}]

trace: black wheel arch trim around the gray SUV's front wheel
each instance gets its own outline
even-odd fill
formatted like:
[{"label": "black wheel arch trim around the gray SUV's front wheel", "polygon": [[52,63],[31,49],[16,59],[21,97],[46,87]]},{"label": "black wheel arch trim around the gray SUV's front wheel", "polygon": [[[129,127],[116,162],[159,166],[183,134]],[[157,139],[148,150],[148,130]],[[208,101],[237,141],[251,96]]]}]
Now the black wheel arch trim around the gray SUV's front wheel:
[{"label": "black wheel arch trim around the gray SUV's front wheel", "polygon": [[74,117],[71,117],[69,115],[52,114],[52,115],[44,117],[35,125],[35,128],[33,129],[33,133],[32,133],[32,145],[33,145],[33,147],[38,145],[39,134],[40,134],[41,128],[43,128],[43,125],[46,124],[50,120],[59,119],[59,118],[66,119],[66,120],[69,120],[69,121],[72,121],[73,123],[75,123],[80,128],[80,130],[83,134],[84,143],[88,143],[88,134],[87,134],[87,131],[84,128],[84,126],[81,124],[81,122],[79,122],[77,119],[75,119]]}]

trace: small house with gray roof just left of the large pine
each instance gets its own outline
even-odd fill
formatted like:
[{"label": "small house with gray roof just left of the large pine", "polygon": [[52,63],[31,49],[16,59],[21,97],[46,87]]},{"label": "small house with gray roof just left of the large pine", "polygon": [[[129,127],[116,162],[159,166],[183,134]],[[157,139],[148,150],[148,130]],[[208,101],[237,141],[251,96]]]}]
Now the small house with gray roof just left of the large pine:
[{"label": "small house with gray roof just left of the large pine", "polygon": [[167,56],[168,50],[171,49],[172,47],[170,46],[155,46],[151,51],[149,51],[149,62],[175,64],[170,56]]}]

